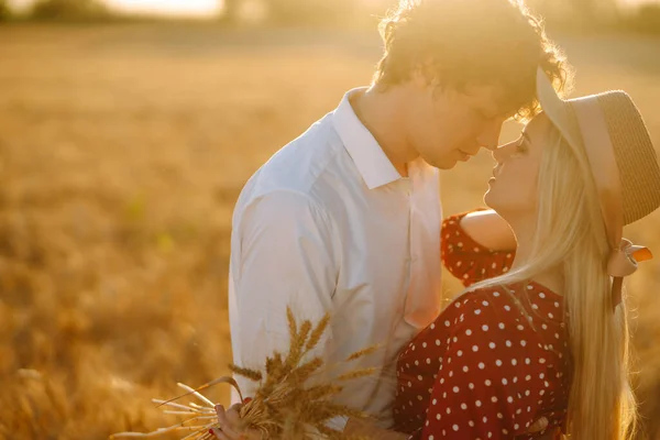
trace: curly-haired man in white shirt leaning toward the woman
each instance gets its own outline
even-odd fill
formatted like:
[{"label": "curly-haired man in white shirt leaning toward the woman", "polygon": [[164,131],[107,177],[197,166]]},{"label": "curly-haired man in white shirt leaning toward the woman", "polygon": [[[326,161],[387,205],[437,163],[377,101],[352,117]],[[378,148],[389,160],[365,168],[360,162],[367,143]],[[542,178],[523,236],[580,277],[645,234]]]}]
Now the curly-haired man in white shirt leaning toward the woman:
[{"label": "curly-haired man in white shirt leaning toward the woman", "polygon": [[537,111],[537,68],[561,87],[565,64],[515,0],[403,0],[381,30],[371,87],[350,90],[241,193],[229,301],[242,366],[286,351],[287,306],[312,321],[331,314],[315,351],[327,364],[380,344],[369,359],[380,377],[339,402],[388,427],[396,355],[441,307],[438,168],[495,148],[505,120]]}]

